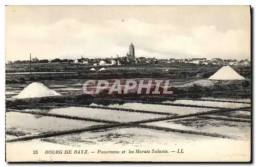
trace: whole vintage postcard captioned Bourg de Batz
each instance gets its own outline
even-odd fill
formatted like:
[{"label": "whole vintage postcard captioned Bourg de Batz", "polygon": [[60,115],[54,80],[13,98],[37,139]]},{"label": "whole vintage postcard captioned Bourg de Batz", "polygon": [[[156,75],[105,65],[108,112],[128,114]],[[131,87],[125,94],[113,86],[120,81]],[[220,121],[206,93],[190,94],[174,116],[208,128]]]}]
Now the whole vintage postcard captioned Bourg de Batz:
[{"label": "whole vintage postcard captioned Bourg de Batz", "polygon": [[250,6],[6,6],[6,161],[250,162]]}]

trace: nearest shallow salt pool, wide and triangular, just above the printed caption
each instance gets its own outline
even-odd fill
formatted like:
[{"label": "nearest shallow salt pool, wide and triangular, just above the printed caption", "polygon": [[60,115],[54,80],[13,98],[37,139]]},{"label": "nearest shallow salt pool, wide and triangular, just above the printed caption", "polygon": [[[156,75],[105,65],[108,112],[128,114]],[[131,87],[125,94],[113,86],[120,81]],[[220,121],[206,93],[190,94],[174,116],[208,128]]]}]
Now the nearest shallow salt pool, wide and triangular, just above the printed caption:
[{"label": "nearest shallow salt pool, wide and triangular, just above the printed caption", "polygon": [[185,133],[165,132],[145,128],[111,128],[102,131],[83,132],[65,136],[48,137],[47,141],[59,142],[67,145],[80,144],[122,144],[122,145],[153,145],[153,144],[179,144],[179,142],[196,141],[198,138],[210,139],[207,136],[198,136]]}]

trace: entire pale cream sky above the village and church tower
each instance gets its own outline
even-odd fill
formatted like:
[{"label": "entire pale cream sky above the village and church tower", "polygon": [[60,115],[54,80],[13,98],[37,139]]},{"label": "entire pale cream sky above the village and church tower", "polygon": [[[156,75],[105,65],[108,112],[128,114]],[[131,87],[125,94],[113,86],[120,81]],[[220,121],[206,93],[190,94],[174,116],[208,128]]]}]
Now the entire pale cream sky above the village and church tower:
[{"label": "entire pale cream sky above the village and church tower", "polygon": [[6,60],[250,59],[249,6],[6,6]]}]

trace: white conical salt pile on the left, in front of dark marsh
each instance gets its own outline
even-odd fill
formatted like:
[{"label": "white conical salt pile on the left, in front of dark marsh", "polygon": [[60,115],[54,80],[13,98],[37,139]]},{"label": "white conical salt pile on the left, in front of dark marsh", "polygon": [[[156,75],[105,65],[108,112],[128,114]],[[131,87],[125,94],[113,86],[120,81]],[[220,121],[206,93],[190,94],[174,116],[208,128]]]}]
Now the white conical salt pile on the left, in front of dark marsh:
[{"label": "white conical salt pile on the left, in front of dark marsh", "polygon": [[54,90],[49,89],[44,84],[33,82],[13,98],[25,99],[25,98],[40,98],[40,97],[50,97],[50,96],[61,96],[61,94],[57,93]]}]

